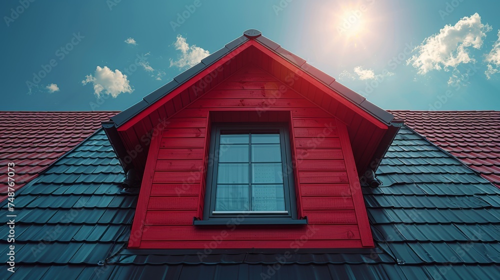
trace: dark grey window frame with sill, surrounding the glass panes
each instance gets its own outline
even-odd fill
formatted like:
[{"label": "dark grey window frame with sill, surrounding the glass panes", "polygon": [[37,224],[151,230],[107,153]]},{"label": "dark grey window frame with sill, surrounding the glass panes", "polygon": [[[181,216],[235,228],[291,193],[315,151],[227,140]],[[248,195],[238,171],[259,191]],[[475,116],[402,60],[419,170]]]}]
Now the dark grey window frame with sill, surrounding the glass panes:
[{"label": "dark grey window frame with sill, surrounding the glass panes", "polygon": [[[221,131],[234,132],[268,132],[279,131],[281,162],[283,171],[284,204],[287,213],[276,211],[251,212],[233,211],[231,213],[213,213],[215,209],[215,193],[218,167],[218,150],[220,148]],[[251,145],[249,142],[248,145]],[[288,122],[214,122],[211,123],[209,153],[206,168],[206,188],[203,206],[203,219],[193,220],[195,225],[228,224],[238,218],[238,224],[307,224],[307,219],[297,218],[297,206],[294,183],[294,164],[291,156],[291,142]],[[249,163],[251,159],[249,158]],[[251,187],[251,182],[249,182]],[[250,195],[251,196],[251,195]],[[251,199],[251,198],[250,198]]]}]

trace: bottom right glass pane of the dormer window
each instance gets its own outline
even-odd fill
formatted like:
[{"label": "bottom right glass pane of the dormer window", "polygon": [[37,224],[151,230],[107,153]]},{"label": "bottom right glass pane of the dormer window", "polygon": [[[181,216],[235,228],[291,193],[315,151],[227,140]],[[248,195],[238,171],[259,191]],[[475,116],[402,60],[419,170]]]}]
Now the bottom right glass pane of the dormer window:
[{"label": "bottom right glass pane of the dormer window", "polygon": [[284,211],[284,190],[282,184],[251,186],[252,211]]}]

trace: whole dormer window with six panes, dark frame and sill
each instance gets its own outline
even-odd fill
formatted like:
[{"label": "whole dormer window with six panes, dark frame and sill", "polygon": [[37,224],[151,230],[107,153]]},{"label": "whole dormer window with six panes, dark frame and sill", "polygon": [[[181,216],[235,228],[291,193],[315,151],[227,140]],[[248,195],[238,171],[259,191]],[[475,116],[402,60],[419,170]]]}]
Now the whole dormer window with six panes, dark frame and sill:
[{"label": "whole dormer window with six panes, dark frame and sill", "polygon": [[297,220],[287,123],[213,123],[203,220],[304,224]]}]

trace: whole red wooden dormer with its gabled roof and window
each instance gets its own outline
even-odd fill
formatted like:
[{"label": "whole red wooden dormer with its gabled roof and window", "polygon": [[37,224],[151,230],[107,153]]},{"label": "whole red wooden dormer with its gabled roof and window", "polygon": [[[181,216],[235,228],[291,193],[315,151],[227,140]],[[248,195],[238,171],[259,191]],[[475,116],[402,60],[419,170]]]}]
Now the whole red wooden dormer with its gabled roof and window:
[{"label": "whole red wooden dormer with its gabled roof and window", "polygon": [[129,248],[373,247],[392,115],[250,29],[103,123],[141,176]]}]

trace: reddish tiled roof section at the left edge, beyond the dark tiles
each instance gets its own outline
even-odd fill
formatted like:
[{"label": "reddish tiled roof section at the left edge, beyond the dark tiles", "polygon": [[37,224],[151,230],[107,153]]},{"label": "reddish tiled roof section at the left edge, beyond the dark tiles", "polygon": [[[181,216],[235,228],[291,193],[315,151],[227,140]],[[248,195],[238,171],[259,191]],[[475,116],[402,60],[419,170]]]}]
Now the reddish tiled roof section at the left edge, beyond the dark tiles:
[{"label": "reddish tiled roof section at the left edge, beyond the dark tiles", "polygon": [[[2,111],[0,165],[15,164],[14,189],[35,178],[117,111]],[[2,173],[3,176],[4,173]],[[3,180],[6,182],[7,180]],[[7,186],[0,186],[0,201]]]}]

